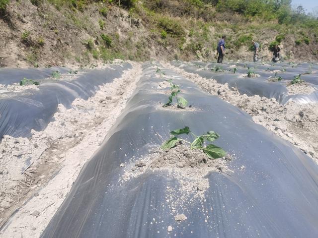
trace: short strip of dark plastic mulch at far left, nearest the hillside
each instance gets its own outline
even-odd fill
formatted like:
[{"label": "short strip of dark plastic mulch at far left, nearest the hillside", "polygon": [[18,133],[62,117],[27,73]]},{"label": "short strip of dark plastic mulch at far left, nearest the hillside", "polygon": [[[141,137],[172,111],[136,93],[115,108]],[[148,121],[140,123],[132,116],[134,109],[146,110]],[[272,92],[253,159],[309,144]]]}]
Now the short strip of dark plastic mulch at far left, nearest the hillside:
[{"label": "short strip of dark plastic mulch at far left, nearest the hillside", "polygon": [[48,78],[54,71],[60,73],[69,72],[69,68],[51,67],[51,68],[0,68],[0,84],[9,85],[20,82],[23,78],[37,80]]}]

